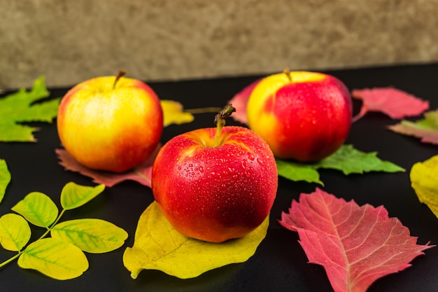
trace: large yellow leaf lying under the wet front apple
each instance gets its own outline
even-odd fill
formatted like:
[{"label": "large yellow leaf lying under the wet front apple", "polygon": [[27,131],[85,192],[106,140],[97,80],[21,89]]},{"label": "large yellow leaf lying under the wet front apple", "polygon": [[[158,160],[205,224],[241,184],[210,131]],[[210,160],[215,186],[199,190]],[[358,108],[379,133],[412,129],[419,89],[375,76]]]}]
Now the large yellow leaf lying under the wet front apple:
[{"label": "large yellow leaf lying under the wet front apple", "polygon": [[141,270],[161,270],[181,279],[197,277],[248,260],[266,236],[268,225],[269,218],[245,237],[219,244],[202,242],[177,232],[153,202],[140,216],[134,246],[125,250],[123,263],[134,279]]}]

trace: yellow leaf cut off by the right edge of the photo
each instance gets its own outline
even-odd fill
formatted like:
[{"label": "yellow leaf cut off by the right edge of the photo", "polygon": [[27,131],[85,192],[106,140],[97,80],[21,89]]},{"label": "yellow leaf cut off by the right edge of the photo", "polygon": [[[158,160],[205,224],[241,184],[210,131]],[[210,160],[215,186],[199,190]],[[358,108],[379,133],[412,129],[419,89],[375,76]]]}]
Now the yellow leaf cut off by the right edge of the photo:
[{"label": "yellow leaf cut off by the right edge of the photo", "polygon": [[418,200],[438,217],[438,155],[414,164],[409,176]]}]

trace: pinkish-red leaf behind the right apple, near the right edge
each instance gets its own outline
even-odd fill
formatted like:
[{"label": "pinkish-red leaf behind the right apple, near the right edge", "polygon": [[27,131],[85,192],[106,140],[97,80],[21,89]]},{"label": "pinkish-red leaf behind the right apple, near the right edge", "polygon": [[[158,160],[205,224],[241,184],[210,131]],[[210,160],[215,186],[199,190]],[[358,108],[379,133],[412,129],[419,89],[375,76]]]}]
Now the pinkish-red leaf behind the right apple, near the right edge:
[{"label": "pinkish-red leaf behind the right apple, near the right edge", "polygon": [[365,116],[368,111],[380,111],[390,118],[404,118],[418,116],[429,109],[429,102],[396,88],[353,90],[351,96],[362,99],[362,107],[353,122]]}]

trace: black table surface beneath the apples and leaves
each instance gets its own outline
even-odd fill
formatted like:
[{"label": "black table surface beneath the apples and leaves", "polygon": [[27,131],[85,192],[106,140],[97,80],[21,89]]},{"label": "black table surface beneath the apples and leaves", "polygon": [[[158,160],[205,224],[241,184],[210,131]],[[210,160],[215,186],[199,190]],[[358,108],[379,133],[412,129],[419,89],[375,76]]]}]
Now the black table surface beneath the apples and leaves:
[{"label": "black table surface beneath the apples and leaves", "polygon": [[[430,109],[438,108],[438,64],[414,64],[397,67],[375,67],[326,71],[344,81],[351,90],[393,86],[430,101]],[[206,80],[157,82],[150,86],[161,99],[182,102],[186,109],[205,106],[223,106],[243,87],[261,76],[215,78]],[[51,97],[61,97],[68,88],[49,88]],[[355,113],[360,102],[354,102]],[[171,137],[199,127],[213,126],[212,113],[195,116],[193,123],[170,125],[164,129],[162,142]],[[372,172],[344,176],[341,172],[320,172],[327,193],[358,204],[383,205],[391,217],[397,217],[418,237],[418,244],[438,244],[438,218],[427,206],[421,204],[410,186],[409,171],[415,162],[424,161],[438,154],[438,146],[423,144],[419,139],[386,130],[397,123],[382,113],[368,113],[353,123],[346,141],[361,151],[377,151],[379,158],[389,160],[406,169],[394,174]],[[92,180],[75,172],[65,171],[59,164],[55,149],[60,147],[56,123],[35,123],[41,127],[36,132],[38,142],[0,143],[0,158],[6,160],[12,175],[6,196],[0,204],[0,216],[10,212],[19,200],[32,191],[45,193],[59,206],[59,194],[69,181],[94,186]],[[227,120],[227,125],[239,125]],[[437,178],[438,179],[438,178]],[[139,216],[153,202],[150,188],[133,181],[125,181],[83,207],[68,211],[69,218],[102,218],[124,228],[129,233],[125,244],[118,250],[104,254],[88,254],[90,268],[76,279],[58,281],[34,270],[24,270],[14,261],[0,269],[1,291],[333,291],[325,270],[307,263],[299,245],[298,235],[282,228],[277,219],[287,211],[292,200],[300,193],[311,193],[314,183],[293,182],[279,178],[278,193],[271,211],[267,237],[255,255],[245,263],[227,265],[211,270],[194,279],[178,279],[160,271],[143,270],[137,279],[130,277],[122,263],[122,254],[134,242],[134,232]],[[42,234],[32,228],[32,239]],[[0,261],[14,253],[0,249]],[[376,291],[438,291],[438,247],[428,249],[418,256],[412,266],[402,272],[378,279],[369,288]]]}]

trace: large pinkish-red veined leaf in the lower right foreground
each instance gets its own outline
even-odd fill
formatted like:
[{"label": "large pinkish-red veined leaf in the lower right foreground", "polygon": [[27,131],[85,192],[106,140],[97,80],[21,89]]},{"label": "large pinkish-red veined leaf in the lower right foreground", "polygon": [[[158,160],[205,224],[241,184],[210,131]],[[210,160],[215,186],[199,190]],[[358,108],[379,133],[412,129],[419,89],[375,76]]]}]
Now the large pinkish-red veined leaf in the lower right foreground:
[{"label": "large pinkish-red veined leaf in the lower right foreground", "polygon": [[426,245],[385,208],[359,207],[316,189],[292,201],[281,225],[299,234],[309,263],[323,265],[336,292],[365,292],[380,277],[409,267]]}]

